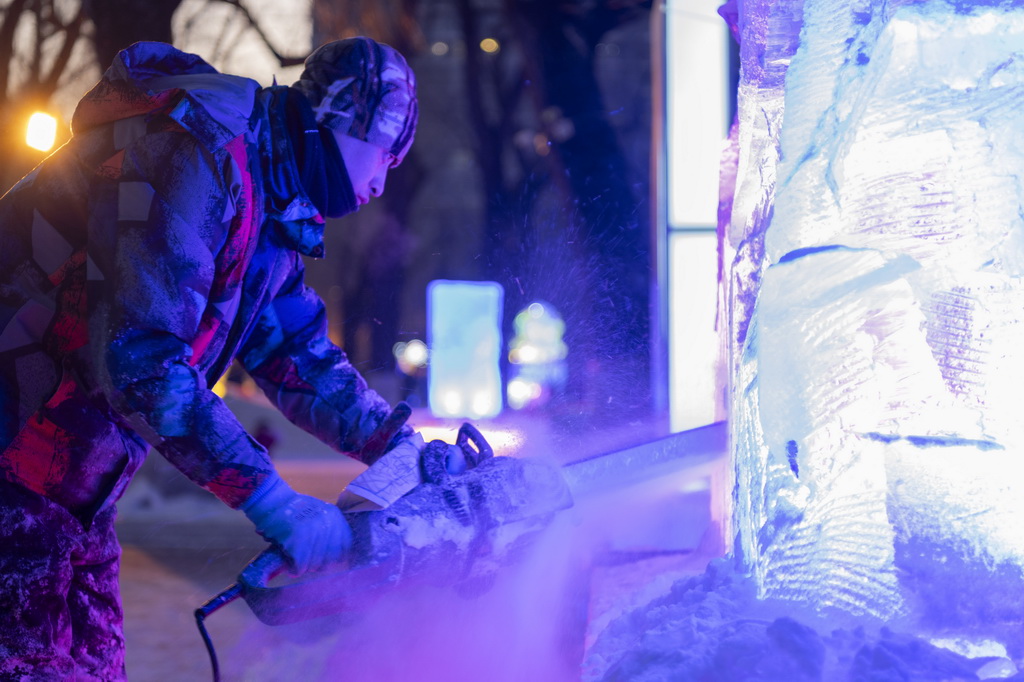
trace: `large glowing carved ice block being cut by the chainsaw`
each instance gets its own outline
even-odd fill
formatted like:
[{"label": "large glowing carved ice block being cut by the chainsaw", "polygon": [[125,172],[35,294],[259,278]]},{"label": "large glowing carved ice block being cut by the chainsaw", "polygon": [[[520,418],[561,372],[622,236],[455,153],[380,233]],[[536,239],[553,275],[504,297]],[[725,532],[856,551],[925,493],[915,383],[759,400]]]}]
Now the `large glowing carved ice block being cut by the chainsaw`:
[{"label": "large glowing carved ice block being cut by the chainsaw", "polygon": [[764,596],[1022,612],[1017,5],[723,10],[742,63],[720,224],[735,547]]}]

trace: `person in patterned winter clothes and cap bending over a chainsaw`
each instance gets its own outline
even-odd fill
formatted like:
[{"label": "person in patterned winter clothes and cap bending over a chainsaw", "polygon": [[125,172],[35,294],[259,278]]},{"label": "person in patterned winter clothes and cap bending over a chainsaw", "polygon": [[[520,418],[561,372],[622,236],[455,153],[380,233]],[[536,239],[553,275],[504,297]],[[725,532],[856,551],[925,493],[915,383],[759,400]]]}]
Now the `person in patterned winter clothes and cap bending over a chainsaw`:
[{"label": "person in patterned winter clothes and cap bending over a chainsaw", "polygon": [[0,200],[0,679],[124,678],[115,504],[150,447],[293,570],[343,554],[338,508],[211,387],[237,359],[339,452],[421,446],[328,340],[300,258],[380,195],[416,122],[406,60],[367,38],[266,88],[138,43]]}]

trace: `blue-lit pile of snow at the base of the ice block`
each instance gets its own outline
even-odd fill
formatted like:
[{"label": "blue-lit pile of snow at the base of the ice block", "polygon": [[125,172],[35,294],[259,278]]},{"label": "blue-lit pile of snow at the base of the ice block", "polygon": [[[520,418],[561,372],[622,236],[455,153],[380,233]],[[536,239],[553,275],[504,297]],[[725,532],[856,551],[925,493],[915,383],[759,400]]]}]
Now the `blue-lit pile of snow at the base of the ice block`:
[{"label": "blue-lit pile of snow at the base of the ice block", "polygon": [[[970,650],[887,628],[835,629],[756,597],[725,561],[614,621],[591,647],[584,682],[966,682],[1024,680],[1006,649]],[[807,619],[801,622],[803,619]],[[811,622],[814,625],[806,625]],[[950,648],[959,645],[968,657]],[[993,655],[994,653],[994,655]]]}]

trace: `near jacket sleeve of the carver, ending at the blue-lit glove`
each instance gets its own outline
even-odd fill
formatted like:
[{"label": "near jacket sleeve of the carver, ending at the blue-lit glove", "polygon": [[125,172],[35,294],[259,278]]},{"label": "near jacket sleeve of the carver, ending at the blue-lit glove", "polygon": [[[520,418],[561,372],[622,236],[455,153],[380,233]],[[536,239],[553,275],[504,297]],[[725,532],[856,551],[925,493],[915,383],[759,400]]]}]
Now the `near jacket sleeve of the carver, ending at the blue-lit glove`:
[{"label": "near jacket sleeve of the carver, ending at the blue-lit glove", "polygon": [[[94,224],[102,271],[90,331],[97,379],[114,409],[191,480],[231,507],[273,470],[265,450],[207,385],[193,344],[225,248],[226,154],[184,133],[146,135],[126,150],[115,196]],[[105,244],[104,244],[105,242]]]}]

